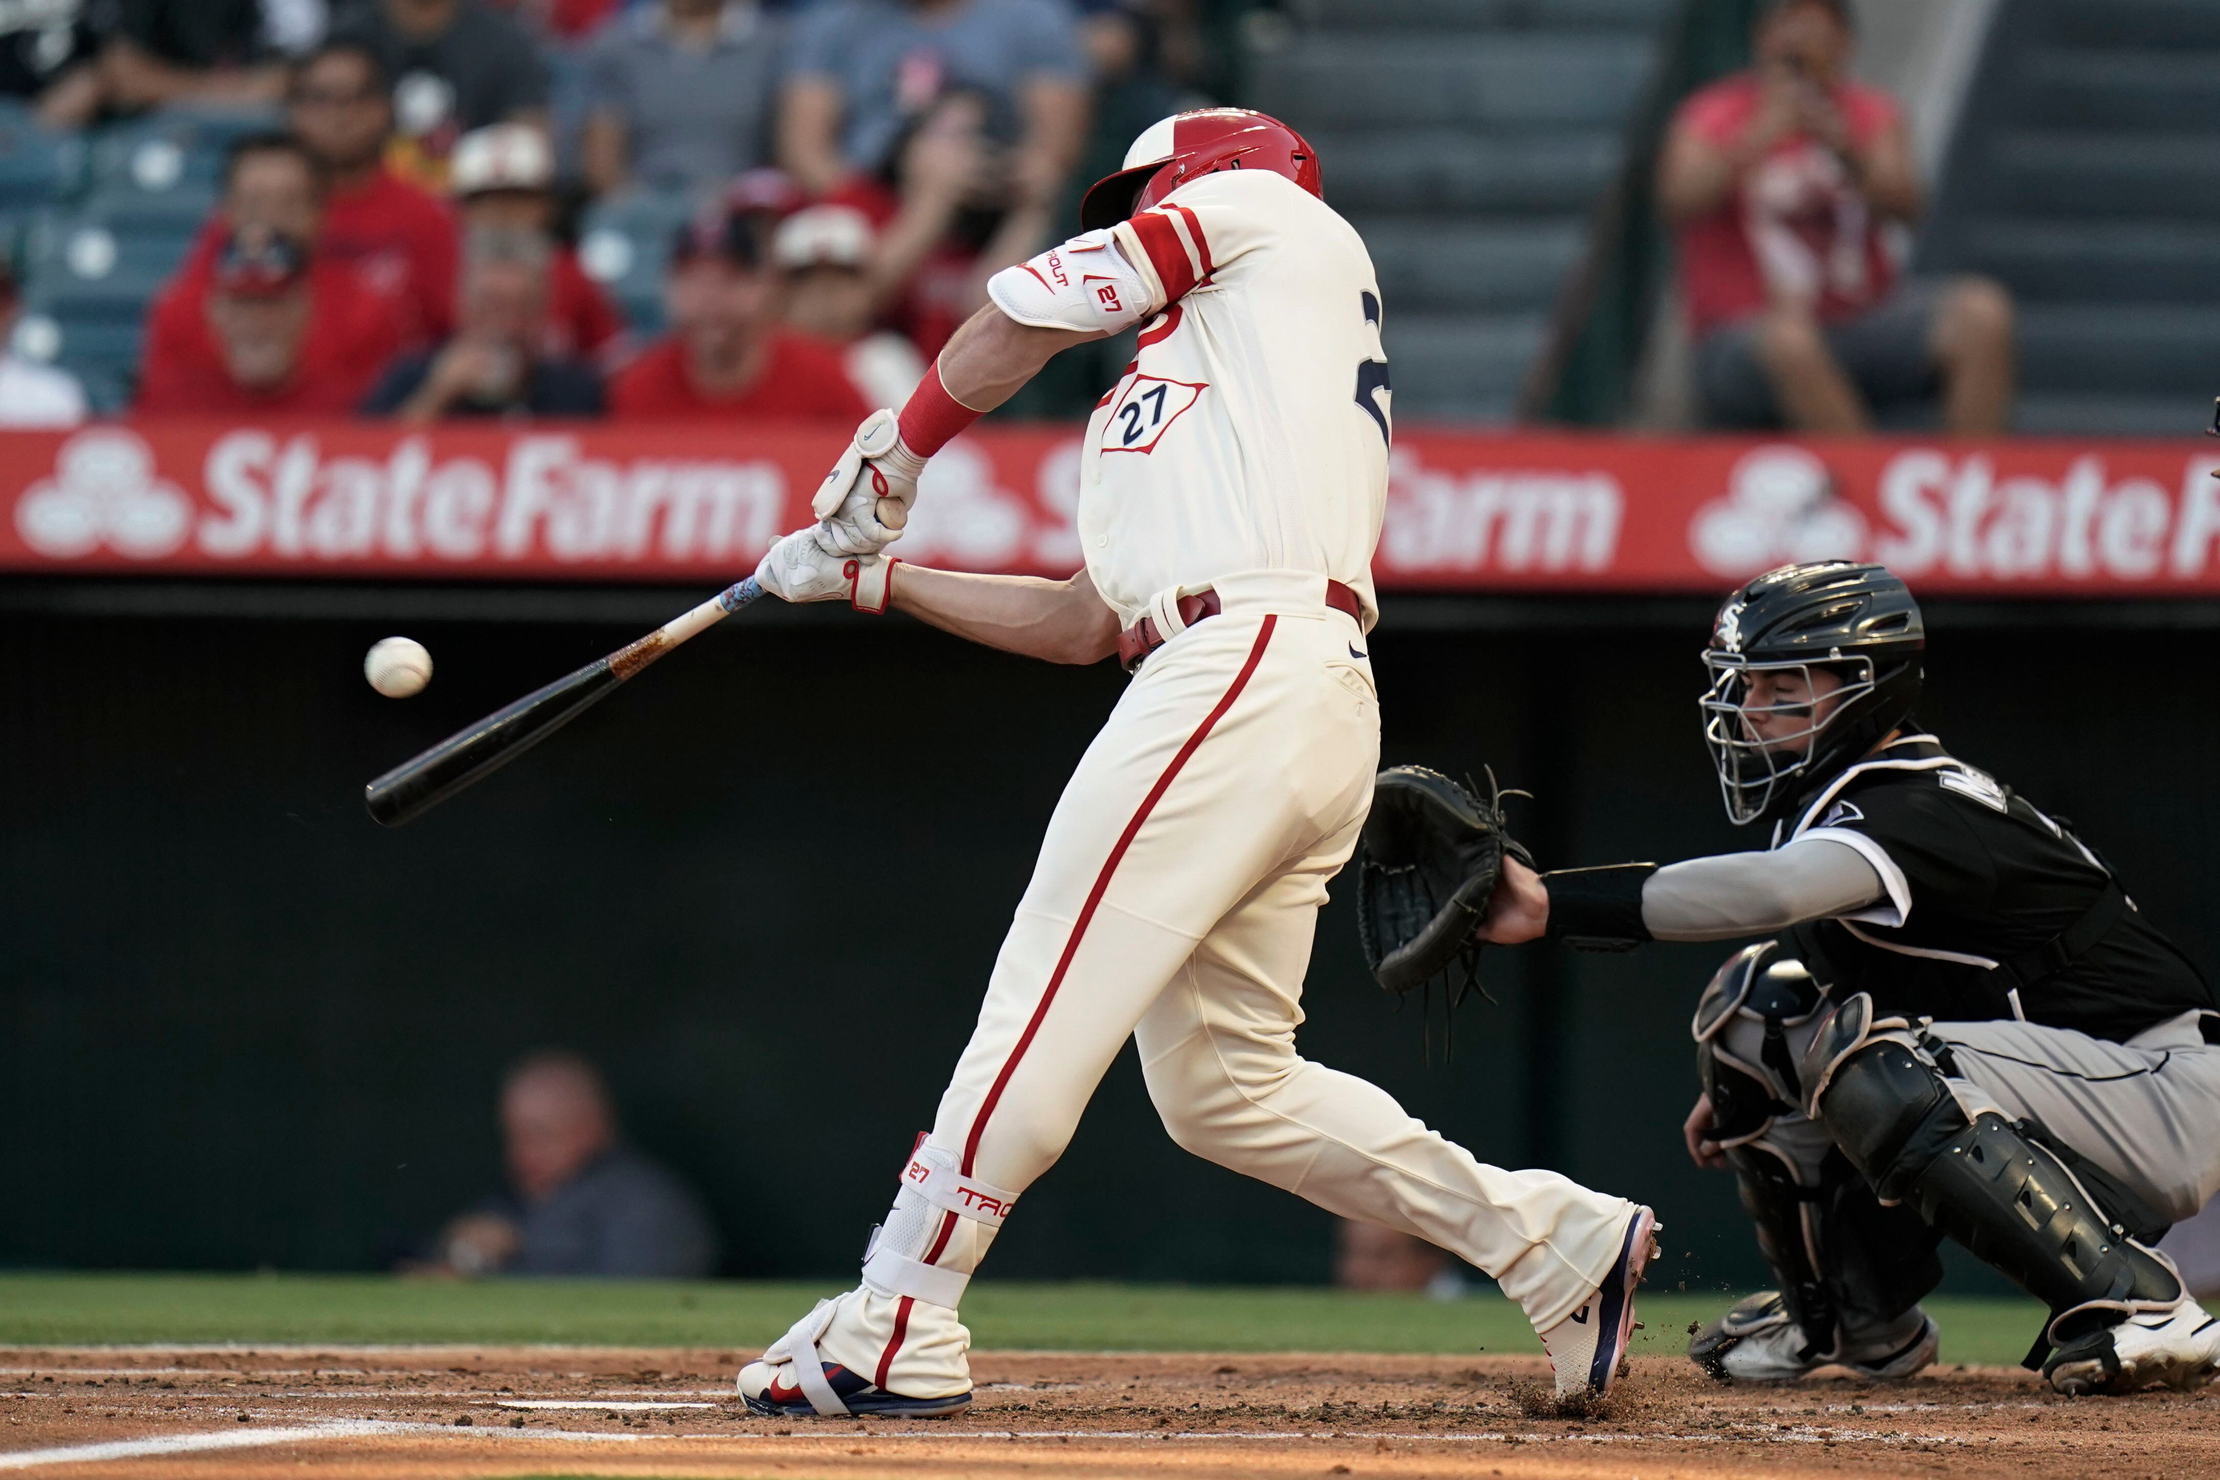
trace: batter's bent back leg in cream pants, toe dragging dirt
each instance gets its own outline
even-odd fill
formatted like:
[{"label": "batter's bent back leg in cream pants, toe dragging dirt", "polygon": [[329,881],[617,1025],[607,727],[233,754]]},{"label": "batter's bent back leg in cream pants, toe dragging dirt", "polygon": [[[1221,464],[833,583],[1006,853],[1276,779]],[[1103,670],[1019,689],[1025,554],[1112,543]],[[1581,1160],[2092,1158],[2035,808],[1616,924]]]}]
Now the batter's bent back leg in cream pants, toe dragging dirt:
[{"label": "batter's bent back leg in cream pants, toe dragging dirt", "polygon": [[[1354,839],[1356,821],[1257,885],[1201,941],[1137,1032],[1150,1098],[1197,1156],[1450,1249],[1552,1331],[1612,1291],[1647,1209],[1556,1172],[1490,1167],[1379,1085],[1294,1050],[1319,905]],[[1645,1260],[1647,1227],[1641,1245]],[[1587,1380],[1585,1367],[1572,1376],[1561,1387]]]}]

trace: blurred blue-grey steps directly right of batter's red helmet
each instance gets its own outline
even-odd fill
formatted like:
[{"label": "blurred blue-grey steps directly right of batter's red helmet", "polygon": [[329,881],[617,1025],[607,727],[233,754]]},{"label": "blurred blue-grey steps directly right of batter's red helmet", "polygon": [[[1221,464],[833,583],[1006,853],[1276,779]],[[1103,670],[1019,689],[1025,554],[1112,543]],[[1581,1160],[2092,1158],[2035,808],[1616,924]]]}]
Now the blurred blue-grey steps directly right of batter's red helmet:
[{"label": "blurred blue-grey steps directly right of batter's red helmet", "polygon": [[1250,100],[1372,249],[1396,413],[1510,419],[1672,0],[1290,0]]}]

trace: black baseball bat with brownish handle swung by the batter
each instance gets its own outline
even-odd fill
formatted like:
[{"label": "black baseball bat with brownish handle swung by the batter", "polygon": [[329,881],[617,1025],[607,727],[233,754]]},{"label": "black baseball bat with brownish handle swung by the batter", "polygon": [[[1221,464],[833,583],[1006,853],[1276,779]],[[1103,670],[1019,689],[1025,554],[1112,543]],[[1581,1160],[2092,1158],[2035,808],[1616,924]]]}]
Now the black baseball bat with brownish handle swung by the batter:
[{"label": "black baseball bat with brownish handle swung by the batter", "polygon": [[533,690],[504,710],[448,734],[424,754],[402,761],[362,788],[362,805],[386,828],[431,812],[466,785],[484,781],[502,766],[591,710],[619,683],[677,648],[688,637],[730,617],[764,595],[755,577],[730,586],[684,617],[666,621],[639,641],[595,659],[566,679]]}]

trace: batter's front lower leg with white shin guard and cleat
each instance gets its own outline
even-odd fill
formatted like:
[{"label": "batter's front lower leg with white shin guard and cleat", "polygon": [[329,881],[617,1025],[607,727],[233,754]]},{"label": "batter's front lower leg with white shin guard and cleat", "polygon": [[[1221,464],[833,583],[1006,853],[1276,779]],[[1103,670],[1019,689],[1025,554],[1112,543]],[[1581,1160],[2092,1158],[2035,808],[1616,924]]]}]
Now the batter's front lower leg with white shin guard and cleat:
[{"label": "batter's front lower leg with white shin guard and cleat", "polygon": [[864,1249],[864,1283],[819,1302],[739,1373],[766,1416],[908,1413],[970,1402],[970,1331],[957,1302],[1017,1194],[959,1169],[919,1136],[886,1223]]}]

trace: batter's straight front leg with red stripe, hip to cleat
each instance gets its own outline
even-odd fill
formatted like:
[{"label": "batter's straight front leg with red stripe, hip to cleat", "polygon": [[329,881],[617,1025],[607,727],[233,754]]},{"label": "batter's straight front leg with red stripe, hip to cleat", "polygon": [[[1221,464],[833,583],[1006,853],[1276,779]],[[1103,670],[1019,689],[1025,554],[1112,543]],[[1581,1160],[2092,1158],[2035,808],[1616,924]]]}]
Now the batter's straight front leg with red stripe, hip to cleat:
[{"label": "batter's straight front leg with red stripe, hip to cleat", "polygon": [[[921,1411],[968,1396],[957,1305],[1001,1216],[1063,1152],[1210,927],[1283,859],[1363,814],[1379,723],[1370,683],[1339,672],[1352,670],[1354,632],[1332,612],[1225,612],[1150,659],[1057,803],[864,1285],[741,1373],[750,1400]],[[819,1360],[837,1369],[826,1400],[806,1385]]]}]

